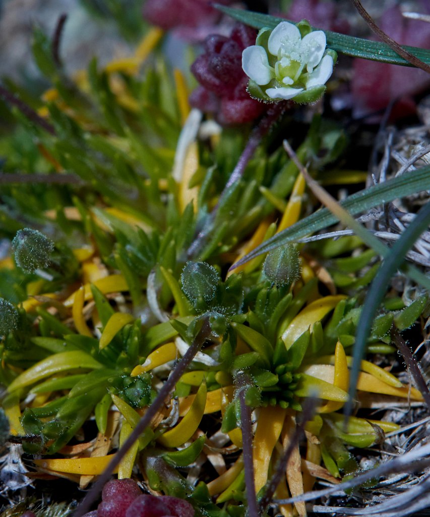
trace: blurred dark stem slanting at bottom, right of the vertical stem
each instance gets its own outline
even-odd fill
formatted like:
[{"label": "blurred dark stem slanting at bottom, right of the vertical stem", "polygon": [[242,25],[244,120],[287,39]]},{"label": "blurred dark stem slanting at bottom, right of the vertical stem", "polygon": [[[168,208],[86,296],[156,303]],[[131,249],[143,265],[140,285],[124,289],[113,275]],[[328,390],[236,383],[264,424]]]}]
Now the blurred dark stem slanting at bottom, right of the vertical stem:
[{"label": "blurred dark stem slanting at bottom, right of the vertical stem", "polygon": [[294,448],[297,446],[300,438],[305,434],[304,425],[306,422],[311,420],[313,414],[315,412],[316,399],[307,398],[305,404],[303,406],[303,410],[301,413],[300,423],[297,423],[296,432],[294,433],[290,445],[286,447],[282,453],[282,456],[279,458],[278,464],[276,465],[275,473],[270,479],[269,484],[267,485],[266,491],[264,492],[263,497],[260,499],[259,511],[260,515],[263,515],[266,511],[267,506],[273,500],[273,496],[275,494],[275,490],[280,483],[282,476],[285,475],[285,469],[288,465],[288,461],[290,460],[291,454],[294,451]]}]

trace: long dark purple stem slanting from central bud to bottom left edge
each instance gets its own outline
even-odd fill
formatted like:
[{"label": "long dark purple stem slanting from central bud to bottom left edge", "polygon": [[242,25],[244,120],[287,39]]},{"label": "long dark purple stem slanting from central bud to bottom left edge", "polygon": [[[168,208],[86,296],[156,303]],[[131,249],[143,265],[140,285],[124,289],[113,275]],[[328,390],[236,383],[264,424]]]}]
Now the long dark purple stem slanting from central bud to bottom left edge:
[{"label": "long dark purple stem slanting from central bud to bottom left edge", "polygon": [[84,515],[84,513],[87,513],[90,510],[91,505],[97,499],[104,484],[109,480],[113,470],[120,464],[121,460],[124,458],[124,455],[130,450],[142,432],[144,432],[148,425],[151,423],[151,420],[157,414],[158,410],[163,406],[165,400],[170,397],[170,393],[173,391],[176,383],[179,381],[181,375],[184,373],[189,363],[193,360],[194,356],[197,354],[206,338],[209,337],[210,332],[211,329],[209,326],[209,321],[206,318],[193,343],[189,346],[185,355],[178,362],[176,368],[170,372],[167,381],[158,392],[154,402],[148,407],[145,415],[139,420],[139,423],[133,429],[131,435],[126,439],[125,443],[115,454],[114,458],[109,462],[105,471],[99,476],[99,479],[97,482],[95,482],[92,489],[85,496],[82,503],[79,504],[79,506],[76,508],[74,517],[81,517]]}]

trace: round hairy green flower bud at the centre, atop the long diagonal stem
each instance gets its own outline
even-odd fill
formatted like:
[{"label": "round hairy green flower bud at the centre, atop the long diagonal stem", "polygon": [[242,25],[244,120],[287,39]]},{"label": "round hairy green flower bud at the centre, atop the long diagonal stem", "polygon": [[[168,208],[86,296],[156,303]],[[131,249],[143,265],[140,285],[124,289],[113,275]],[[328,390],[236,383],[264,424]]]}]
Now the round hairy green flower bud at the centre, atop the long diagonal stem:
[{"label": "round hairy green flower bud at the centre, atop the long diagonal stem", "polygon": [[198,311],[208,309],[216,296],[220,278],[205,262],[187,262],[181,274],[182,291]]}]

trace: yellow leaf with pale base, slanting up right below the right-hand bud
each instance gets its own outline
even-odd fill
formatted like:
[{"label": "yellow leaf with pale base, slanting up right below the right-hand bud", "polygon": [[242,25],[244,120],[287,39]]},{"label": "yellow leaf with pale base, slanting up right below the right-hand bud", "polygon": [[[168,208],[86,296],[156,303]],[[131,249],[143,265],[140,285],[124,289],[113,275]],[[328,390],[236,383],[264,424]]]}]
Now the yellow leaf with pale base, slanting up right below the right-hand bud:
[{"label": "yellow leaf with pale base, slanting up right below the right-hand bud", "polygon": [[345,299],[344,295],[326,296],[309,303],[302,311],[300,311],[288,328],[282,334],[282,341],[288,350],[294,341],[306,332],[308,328],[334,309],[338,303]]}]

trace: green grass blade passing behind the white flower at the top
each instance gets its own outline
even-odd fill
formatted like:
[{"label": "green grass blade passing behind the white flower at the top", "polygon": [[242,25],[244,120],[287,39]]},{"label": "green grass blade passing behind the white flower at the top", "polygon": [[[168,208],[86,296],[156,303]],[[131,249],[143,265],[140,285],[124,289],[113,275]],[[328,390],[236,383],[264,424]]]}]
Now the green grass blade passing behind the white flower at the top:
[{"label": "green grass blade passing behind the white flower at the top", "polygon": [[[260,12],[244,11],[242,9],[232,9],[222,5],[216,5],[217,9],[228,14],[235,20],[246,25],[260,29],[262,27],[275,28],[278,23],[289,21],[285,18],[270,16]],[[336,50],[342,54],[352,57],[362,57],[371,59],[381,63],[390,63],[392,65],[413,66],[406,59],[399,56],[386,43],[380,41],[371,41],[363,38],[355,38],[346,36],[345,34],[324,31],[327,38],[327,47]],[[420,49],[418,47],[408,47],[402,45],[405,50],[418,57],[422,62],[430,64],[430,50]]]}]

